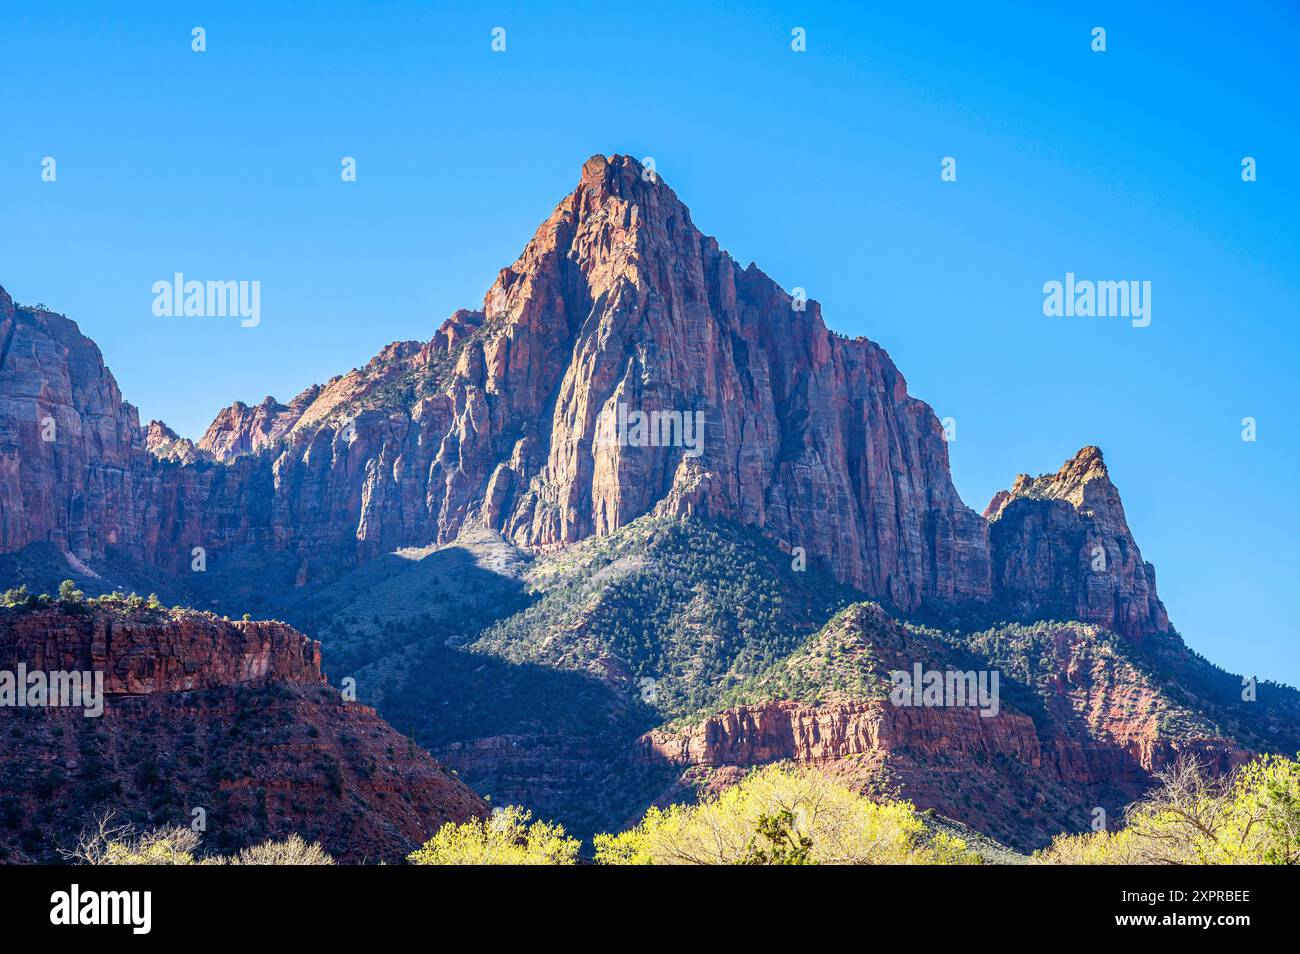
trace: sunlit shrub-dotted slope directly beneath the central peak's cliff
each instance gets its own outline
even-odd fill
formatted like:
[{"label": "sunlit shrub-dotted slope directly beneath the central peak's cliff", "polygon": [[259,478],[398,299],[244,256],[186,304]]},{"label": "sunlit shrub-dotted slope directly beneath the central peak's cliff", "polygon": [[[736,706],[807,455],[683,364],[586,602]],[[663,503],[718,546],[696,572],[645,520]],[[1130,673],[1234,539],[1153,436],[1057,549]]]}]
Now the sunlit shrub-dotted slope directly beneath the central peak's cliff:
[{"label": "sunlit shrub-dotted slope directly beneath the central peak's cliff", "polygon": [[749,528],[664,517],[540,560],[525,578],[536,600],[471,649],[590,673],[664,719],[723,698],[854,597]]}]

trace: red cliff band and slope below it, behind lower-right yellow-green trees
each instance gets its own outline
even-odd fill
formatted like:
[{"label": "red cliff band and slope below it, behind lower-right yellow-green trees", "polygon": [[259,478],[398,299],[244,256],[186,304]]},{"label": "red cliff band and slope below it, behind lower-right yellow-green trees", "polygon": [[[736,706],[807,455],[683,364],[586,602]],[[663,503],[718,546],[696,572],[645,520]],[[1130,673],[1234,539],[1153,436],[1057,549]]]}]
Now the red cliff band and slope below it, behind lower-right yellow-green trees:
[{"label": "red cliff band and slope below it, behind lower-right yellow-green trees", "polygon": [[720,785],[737,781],[736,769],[783,760],[866,789],[888,777],[918,807],[1023,850],[1062,831],[1083,831],[1097,806],[1118,820],[1152,773],[1180,755],[1192,754],[1214,772],[1252,758],[1231,740],[1171,738],[1141,715],[1135,720],[1113,708],[1114,699],[1095,702],[1091,733],[1070,733],[1011,710],[985,719],[974,708],[904,708],[888,701],[775,701],[646,733],[638,754],[651,764],[715,769]]}]

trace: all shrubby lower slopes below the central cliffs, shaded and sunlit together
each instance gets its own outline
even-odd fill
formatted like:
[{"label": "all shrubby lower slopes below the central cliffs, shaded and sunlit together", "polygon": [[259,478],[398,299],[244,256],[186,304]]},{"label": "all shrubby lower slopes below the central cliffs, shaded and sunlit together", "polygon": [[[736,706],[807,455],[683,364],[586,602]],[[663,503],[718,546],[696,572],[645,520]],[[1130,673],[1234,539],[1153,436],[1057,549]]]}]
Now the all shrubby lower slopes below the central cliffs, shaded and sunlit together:
[{"label": "all shrubby lower slopes below the central cliffs, shaded and sunlit together", "polygon": [[[578,833],[793,758],[1037,847],[1118,818],[1179,751],[1226,767],[1258,747],[1165,691],[1148,656],[1192,659],[1174,634],[905,625],[732,524],[642,517],[530,563],[493,537],[417,556],[304,599],[338,621],[326,662],[494,803]],[[1000,714],[889,706],[914,663],[997,669]]]}]

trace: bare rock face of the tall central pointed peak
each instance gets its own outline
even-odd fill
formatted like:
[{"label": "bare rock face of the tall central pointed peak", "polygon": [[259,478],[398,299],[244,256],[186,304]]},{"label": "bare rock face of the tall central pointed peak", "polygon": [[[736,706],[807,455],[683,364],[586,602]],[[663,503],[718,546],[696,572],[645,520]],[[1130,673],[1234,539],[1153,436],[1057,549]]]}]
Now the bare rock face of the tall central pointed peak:
[{"label": "bare rock face of the tall central pointed peak", "polygon": [[[485,516],[515,542],[699,513],[762,526],[898,606],[989,594],[983,521],[888,355],[741,269],[634,161],[588,161],[485,312],[460,387],[497,412]],[[702,441],[597,439],[620,406],[698,415]]]}]

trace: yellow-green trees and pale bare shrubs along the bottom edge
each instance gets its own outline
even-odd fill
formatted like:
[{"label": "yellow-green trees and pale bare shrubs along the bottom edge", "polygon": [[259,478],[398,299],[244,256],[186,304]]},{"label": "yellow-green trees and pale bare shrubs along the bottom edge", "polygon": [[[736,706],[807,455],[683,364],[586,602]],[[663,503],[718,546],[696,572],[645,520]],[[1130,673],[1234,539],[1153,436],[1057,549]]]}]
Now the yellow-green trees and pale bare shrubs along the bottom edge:
[{"label": "yellow-green trees and pale bare shrubs along the bottom edge", "polygon": [[[1114,832],[1060,836],[1039,864],[1300,864],[1300,759],[1265,755],[1227,776],[1186,758],[1130,806]],[[597,864],[982,864],[966,840],[906,801],[876,801],[815,769],[775,764],[696,803],[651,807],[632,828],[597,834]],[[294,834],[204,854],[187,828],[138,831],[112,814],[61,853],[82,864],[333,864]],[[577,864],[582,842],[519,806],[447,823],[411,864]]]}]

